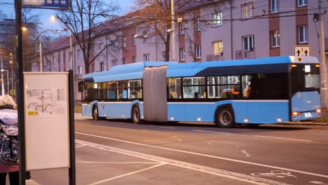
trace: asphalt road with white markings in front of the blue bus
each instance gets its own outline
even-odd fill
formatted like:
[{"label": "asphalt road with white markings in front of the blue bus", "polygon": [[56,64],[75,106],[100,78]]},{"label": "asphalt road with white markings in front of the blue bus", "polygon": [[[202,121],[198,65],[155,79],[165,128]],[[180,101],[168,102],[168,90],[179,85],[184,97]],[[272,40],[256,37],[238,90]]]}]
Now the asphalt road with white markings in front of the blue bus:
[{"label": "asphalt road with white markings in front of the blue bus", "polygon": [[[328,184],[327,125],[216,128],[77,117],[77,184]],[[27,184],[68,184],[65,169]]]}]

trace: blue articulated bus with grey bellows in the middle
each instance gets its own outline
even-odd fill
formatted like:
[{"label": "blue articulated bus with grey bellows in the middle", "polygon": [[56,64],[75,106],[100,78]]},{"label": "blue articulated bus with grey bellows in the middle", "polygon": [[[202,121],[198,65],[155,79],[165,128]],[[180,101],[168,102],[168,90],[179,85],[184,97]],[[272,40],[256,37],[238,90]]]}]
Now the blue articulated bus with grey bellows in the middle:
[{"label": "blue articulated bus with grey bellows in the middle", "polygon": [[266,124],[320,117],[315,57],[138,62],[83,76],[83,116]]}]

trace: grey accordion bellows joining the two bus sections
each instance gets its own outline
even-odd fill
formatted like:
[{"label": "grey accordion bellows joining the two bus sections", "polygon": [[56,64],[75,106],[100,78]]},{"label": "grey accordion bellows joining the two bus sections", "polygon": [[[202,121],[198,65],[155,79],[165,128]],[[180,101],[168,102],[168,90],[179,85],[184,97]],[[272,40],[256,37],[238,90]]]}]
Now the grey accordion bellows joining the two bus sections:
[{"label": "grey accordion bellows joining the two bus sections", "polygon": [[168,121],[168,92],[166,71],[168,66],[144,69],[144,120]]}]

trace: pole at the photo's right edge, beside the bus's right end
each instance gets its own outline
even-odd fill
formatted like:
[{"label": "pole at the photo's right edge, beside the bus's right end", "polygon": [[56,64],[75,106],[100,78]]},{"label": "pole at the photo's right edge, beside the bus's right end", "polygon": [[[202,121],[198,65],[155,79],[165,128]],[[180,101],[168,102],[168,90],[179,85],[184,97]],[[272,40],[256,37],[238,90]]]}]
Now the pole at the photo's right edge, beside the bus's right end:
[{"label": "pole at the photo's right edge, beside the bus's right end", "polygon": [[319,43],[320,43],[320,78],[321,78],[321,87],[320,87],[320,94],[321,94],[321,106],[323,109],[328,108],[328,92],[327,92],[327,65],[324,56],[324,22],[322,20],[322,0],[319,1]]}]

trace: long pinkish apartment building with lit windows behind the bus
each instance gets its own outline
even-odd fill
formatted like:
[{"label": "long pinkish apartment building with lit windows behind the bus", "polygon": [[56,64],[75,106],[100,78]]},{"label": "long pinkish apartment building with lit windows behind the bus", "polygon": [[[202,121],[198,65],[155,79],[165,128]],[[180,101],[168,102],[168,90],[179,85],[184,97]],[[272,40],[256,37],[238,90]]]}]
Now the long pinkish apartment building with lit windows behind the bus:
[{"label": "long pinkish apartment building with lit windows behind the bus", "polygon": [[[172,51],[171,41],[170,60],[210,62],[294,55],[294,46],[299,45],[309,46],[309,55],[319,58],[317,15],[324,13],[324,35],[328,35],[327,9],[327,1],[316,0],[191,1],[175,12],[175,50]],[[119,26],[113,20],[103,27],[110,32],[93,40],[93,56],[97,57],[90,65],[90,72],[108,70],[118,64],[165,61],[165,43],[160,36],[164,37],[170,29],[166,27],[159,35],[146,19],[124,16]],[[157,21],[160,24],[161,20]],[[68,37],[53,43],[56,47],[47,55],[57,66],[52,71],[69,69],[67,40]],[[327,39],[325,43],[327,61]],[[75,41],[73,48],[75,96],[81,100],[77,91],[85,74],[83,55]],[[176,58],[172,58],[173,52]]]}]

